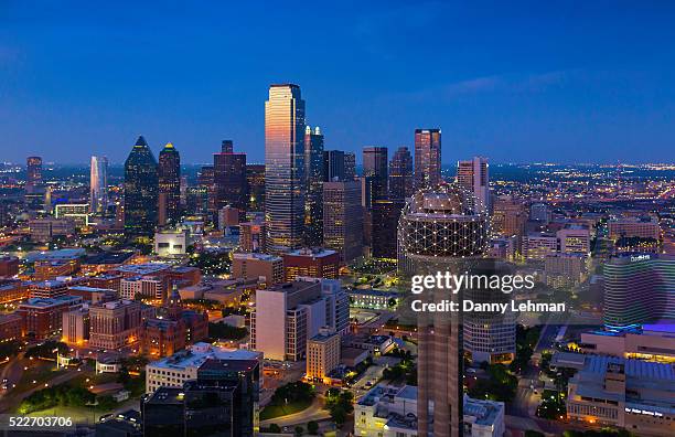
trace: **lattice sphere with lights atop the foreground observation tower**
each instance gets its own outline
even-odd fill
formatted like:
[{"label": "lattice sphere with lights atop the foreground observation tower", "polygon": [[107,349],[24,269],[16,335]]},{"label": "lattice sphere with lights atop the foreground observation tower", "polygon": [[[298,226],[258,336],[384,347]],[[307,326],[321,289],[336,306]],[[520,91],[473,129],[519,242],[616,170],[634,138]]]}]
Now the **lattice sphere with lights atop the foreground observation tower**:
[{"label": "lattice sphere with lights atop the foreground observation tower", "polygon": [[403,210],[398,244],[408,259],[481,257],[490,244],[490,216],[470,191],[454,183],[421,189]]}]

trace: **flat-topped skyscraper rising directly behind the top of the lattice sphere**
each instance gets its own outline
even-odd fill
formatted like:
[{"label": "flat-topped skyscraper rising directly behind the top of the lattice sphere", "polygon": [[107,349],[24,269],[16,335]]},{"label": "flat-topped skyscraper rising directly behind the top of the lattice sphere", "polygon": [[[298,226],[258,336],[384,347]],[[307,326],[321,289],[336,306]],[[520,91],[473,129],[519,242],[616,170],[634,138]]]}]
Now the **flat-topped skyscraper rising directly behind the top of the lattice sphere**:
[{"label": "flat-topped skyscraper rising directly behind the top of the lattice sphere", "polygon": [[440,129],[415,129],[415,188],[441,182]]}]

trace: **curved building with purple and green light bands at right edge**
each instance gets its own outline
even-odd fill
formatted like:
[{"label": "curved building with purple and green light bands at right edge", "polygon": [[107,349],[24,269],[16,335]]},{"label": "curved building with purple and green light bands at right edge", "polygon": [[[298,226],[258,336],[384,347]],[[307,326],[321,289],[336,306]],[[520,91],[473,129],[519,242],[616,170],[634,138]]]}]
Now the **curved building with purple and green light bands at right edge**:
[{"label": "curved building with purple and green light bands at right edge", "polygon": [[675,321],[675,257],[625,254],[608,260],[602,276],[608,328]]}]

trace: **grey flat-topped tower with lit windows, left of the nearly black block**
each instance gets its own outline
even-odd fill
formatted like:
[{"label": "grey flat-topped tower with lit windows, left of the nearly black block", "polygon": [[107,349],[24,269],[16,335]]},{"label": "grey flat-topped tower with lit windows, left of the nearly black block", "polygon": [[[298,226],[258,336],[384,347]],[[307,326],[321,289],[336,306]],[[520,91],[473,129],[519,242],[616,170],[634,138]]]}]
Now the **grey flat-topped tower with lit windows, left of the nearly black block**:
[{"label": "grey flat-topped tower with lit windows, left of the nearly black block", "polygon": [[363,255],[363,207],[356,181],[323,183],[323,245],[343,263]]}]

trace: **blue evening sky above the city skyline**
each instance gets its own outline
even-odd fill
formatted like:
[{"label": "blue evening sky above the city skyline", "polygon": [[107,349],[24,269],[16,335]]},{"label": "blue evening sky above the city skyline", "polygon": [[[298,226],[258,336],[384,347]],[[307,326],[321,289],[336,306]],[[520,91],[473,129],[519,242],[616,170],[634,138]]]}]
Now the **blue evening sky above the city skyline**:
[{"label": "blue evening sky above the city skyline", "polygon": [[0,160],[264,158],[271,83],[301,86],[326,149],[443,162],[675,161],[675,3],[0,0]]}]

